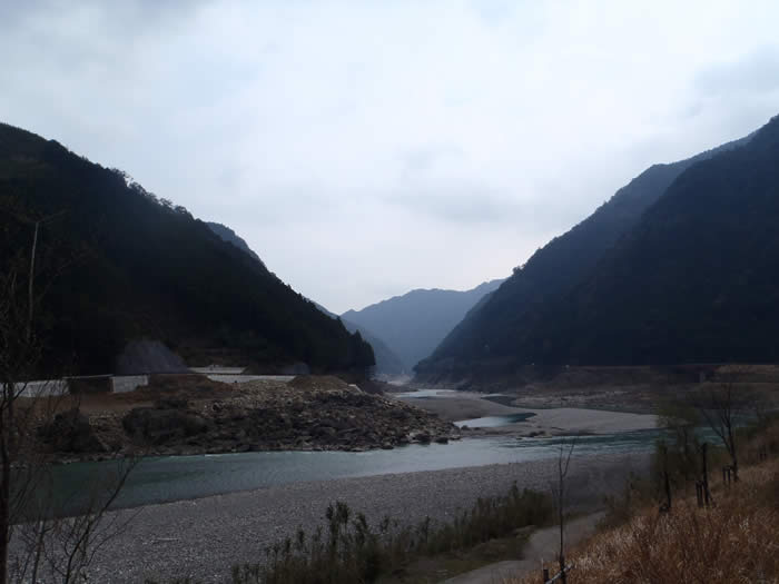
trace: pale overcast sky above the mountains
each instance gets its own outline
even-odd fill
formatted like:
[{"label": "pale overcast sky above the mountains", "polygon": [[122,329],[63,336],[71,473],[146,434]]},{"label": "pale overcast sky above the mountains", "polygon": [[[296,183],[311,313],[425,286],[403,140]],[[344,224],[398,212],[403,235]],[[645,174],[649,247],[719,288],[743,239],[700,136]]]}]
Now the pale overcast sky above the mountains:
[{"label": "pale overcast sky above the mountains", "polygon": [[779,3],[0,1],[0,121],[231,227],[333,311],[511,274],[779,113]]}]

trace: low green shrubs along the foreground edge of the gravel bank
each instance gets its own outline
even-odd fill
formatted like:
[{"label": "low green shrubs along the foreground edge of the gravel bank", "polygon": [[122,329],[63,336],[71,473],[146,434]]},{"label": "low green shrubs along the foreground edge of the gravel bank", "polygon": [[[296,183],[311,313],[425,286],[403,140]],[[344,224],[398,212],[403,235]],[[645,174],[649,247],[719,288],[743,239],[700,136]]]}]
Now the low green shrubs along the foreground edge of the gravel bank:
[{"label": "low green shrubs along the foreground edge of the gravel bank", "polygon": [[[324,528],[303,528],[266,548],[264,562],[233,568],[233,584],[362,584],[386,580],[421,557],[470,550],[513,535],[522,527],[543,525],[553,515],[551,498],[514,484],[507,495],[480,498],[452,523],[428,518],[402,526],[389,517],[371,525],[345,503],[327,508]],[[188,584],[189,580],[172,584]],[[147,584],[152,584],[147,581]]]}]

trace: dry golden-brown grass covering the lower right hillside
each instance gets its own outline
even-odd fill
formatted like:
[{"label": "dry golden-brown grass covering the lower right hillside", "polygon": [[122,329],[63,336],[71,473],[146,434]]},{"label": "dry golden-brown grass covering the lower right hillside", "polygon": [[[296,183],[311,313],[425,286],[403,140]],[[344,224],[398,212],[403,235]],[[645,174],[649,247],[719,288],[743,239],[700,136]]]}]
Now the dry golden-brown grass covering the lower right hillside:
[{"label": "dry golden-brown grass covering the lower right hillside", "polygon": [[[569,554],[569,584],[779,583],[779,463],[745,468],[742,481],[714,493],[717,505],[693,499],[637,513]],[[513,581],[538,584],[540,574]]]}]

